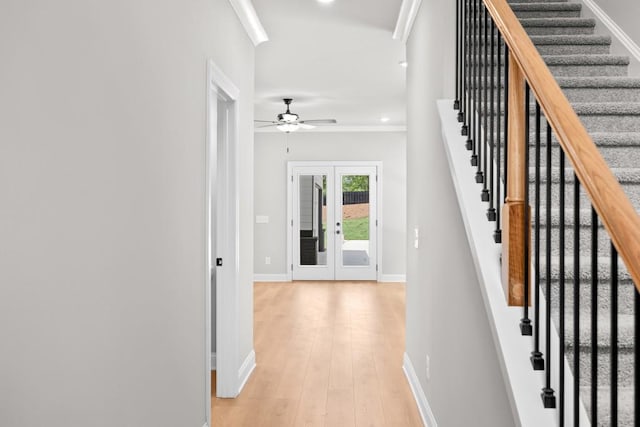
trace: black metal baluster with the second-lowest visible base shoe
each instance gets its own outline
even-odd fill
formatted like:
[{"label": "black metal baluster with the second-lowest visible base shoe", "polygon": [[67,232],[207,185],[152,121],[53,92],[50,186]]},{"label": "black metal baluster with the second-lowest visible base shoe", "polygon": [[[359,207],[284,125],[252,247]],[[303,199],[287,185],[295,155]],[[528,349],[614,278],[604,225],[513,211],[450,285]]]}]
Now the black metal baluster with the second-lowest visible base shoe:
[{"label": "black metal baluster with the second-lowest visible base shoe", "polygon": [[541,127],[540,127],[540,104],[536,100],[536,166],[535,166],[535,255],[534,255],[534,271],[536,281],[534,284],[534,314],[533,314],[533,351],[531,352],[531,365],[536,371],[544,370],[544,358],[540,351],[540,146],[541,146]]}]

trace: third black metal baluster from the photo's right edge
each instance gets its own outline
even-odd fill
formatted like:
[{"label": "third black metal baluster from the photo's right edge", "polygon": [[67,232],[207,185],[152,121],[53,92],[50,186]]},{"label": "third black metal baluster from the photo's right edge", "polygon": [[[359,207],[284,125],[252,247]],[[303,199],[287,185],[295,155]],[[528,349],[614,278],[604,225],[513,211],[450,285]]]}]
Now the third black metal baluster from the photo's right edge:
[{"label": "third black metal baluster from the photo's right edge", "polygon": [[598,424],[598,215],[591,207],[591,423]]}]

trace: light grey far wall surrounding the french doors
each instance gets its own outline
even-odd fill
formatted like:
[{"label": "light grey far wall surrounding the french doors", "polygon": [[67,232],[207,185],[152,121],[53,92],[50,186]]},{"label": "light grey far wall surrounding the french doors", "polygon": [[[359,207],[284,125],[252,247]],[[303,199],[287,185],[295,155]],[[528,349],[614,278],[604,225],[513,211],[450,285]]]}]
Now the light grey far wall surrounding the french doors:
[{"label": "light grey far wall surrounding the french doors", "polygon": [[[289,153],[286,152],[287,137]],[[287,273],[287,162],[297,160],[383,161],[383,274],[405,274],[404,132],[256,133],[255,273]],[[265,257],[271,265],[265,265]]]}]

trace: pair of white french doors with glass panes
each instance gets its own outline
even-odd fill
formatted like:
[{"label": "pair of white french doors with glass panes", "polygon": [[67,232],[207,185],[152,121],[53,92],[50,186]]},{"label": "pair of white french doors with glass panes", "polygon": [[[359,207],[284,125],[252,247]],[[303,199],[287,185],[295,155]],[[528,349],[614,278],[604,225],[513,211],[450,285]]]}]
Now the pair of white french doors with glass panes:
[{"label": "pair of white french doors with glass panes", "polygon": [[293,280],[376,280],[377,169],[290,168]]}]

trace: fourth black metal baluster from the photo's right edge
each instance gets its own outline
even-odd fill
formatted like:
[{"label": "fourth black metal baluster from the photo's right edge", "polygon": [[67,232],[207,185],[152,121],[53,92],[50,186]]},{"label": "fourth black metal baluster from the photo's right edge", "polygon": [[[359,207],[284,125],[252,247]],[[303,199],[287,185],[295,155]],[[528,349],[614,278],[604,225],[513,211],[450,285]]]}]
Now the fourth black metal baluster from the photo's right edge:
[{"label": "fourth black metal baluster from the photo's right edge", "polygon": [[580,426],[580,181],[573,174],[573,422]]}]

